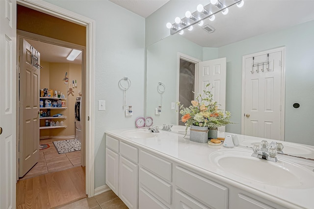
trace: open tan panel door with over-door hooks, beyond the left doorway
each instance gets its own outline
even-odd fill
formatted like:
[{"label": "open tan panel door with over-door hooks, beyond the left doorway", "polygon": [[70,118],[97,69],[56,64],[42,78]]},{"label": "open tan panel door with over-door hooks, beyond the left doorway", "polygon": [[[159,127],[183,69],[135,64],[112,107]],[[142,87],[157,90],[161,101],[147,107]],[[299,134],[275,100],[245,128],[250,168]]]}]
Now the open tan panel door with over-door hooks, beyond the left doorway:
[{"label": "open tan panel door with over-door hooks, beyond the left doorway", "polygon": [[40,54],[25,39],[20,38],[20,139],[19,176],[23,177],[39,159],[39,78],[35,57]]}]

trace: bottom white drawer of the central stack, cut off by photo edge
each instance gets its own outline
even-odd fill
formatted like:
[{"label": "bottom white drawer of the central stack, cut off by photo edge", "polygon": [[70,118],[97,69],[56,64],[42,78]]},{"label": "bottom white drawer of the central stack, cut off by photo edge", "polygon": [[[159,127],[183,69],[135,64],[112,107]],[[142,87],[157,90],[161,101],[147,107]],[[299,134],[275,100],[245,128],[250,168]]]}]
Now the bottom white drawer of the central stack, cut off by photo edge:
[{"label": "bottom white drawer of the central stack, cut off by photo edge", "polygon": [[142,187],[138,192],[138,209],[169,209]]}]

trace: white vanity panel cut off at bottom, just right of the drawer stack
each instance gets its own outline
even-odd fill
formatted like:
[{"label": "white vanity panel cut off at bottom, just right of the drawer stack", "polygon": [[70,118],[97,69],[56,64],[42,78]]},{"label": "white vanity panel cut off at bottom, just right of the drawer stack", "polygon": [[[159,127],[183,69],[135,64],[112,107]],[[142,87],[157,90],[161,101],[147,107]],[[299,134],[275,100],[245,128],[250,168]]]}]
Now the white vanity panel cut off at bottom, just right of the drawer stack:
[{"label": "white vanity panel cut off at bottom, just right of the drawer stack", "polygon": [[176,189],[174,205],[175,209],[210,209],[178,189]]}]

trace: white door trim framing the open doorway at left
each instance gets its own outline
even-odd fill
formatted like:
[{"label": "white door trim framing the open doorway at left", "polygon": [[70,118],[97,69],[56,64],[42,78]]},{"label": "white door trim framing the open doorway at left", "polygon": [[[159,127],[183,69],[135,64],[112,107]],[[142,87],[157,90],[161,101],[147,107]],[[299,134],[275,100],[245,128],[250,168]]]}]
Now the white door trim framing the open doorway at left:
[{"label": "white door trim framing the open doorway at left", "polygon": [[[86,194],[88,197],[94,196],[95,193],[95,174],[94,174],[94,65],[95,65],[95,21],[74,13],[72,11],[55,6],[43,0],[17,0],[17,3],[28,8],[52,15],[54,17],[70,21],[72,23],[86,27],[86,54],[85,54],[85,116],[86,123],[83,123],[85,131],[85,179]],[[83,63],[82,63],[83,64]],[[82,75],[83,76],[83,75]],[[84,122],[84,121],[82,121]],[[18,124],[17,124],[18,125]],[[17,129],[18,130],[18,129]]]}]

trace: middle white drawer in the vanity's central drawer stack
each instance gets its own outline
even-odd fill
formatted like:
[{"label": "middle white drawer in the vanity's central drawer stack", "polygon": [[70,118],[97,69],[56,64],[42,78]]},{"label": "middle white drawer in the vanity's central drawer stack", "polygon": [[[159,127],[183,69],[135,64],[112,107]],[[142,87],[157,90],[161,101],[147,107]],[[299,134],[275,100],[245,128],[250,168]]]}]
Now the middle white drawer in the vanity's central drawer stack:
[{"label": "middle white drawer in the vanity's central drawer stack", "polygon": [[146,187],[151,194],[153,194],[157,199],[161,199],[164,202],[171,204],[172,202],[172,185],[159,179],[155,175],[151,174],[143,168],[139,169],[140,183]]}]

